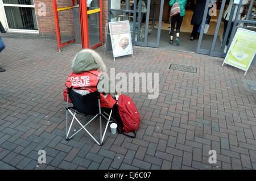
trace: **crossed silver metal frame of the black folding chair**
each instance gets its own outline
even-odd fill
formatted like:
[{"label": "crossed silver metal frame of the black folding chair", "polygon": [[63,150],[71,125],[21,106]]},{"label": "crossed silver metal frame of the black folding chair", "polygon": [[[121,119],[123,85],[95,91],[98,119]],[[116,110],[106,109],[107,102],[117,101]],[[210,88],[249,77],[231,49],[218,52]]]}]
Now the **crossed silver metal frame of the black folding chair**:
[{"label": "crossed silver metal frame of the black folding chair", "polygon": [[[112,123],[113,121],[111,121],[110,119],[113,119],[111,116],[112,116],[112,111],[113,109],[111,109],[110,113],[106,113],[105,111],[101,111],[101,107],[100,107],[100,93],[98,92],[98,113],[97,115],[95,115],[92,119],[90,119],[85,125],[82,125],[81,121],[79,119],[77,119],[76,117],[76,113],[79,113],[77,110],[74,110],[72,107],[69,107],[68,106],[68,101],[69,100],[69,94],[67,94],[67,104],[66,104],[66,140],[70,140],[73,136],[75,136],[77,133],[79,133],[82,129],[84,129],[84,131],[86,133],[89,134],[90,137],[93,138],[93,140],[100,146],[103,145],[103,140],[104,140],[104,137],[105,137],[105,134],[106,134],[106,131],[108,129],[108,125],[109,123]],[[73,110],[74,113],[71,111]],[[69,124],[68,126],[68,112],[73,116],[72,117],[72,121],[71,121],[71,124]],[[80,113],[81,115],[84,115],[84,113]],[[86,115],[85,115],[86,116]],[[88,129],[86,129],[85,127],[90,124],[93,120],[97,119],[97,118],[100,118],[100,141],[97,141],[96,138],[94,138],[94,136],[92,136],[92,134],[88,131]],[[107,121],[107,124],[106,124],[106,127],[105,127],[105,130],[104,130],[104,133],[102,135],[102,117]],[[72,125],[73,125],[73,122],[74,120],[77,121],[77,123],[79,123],[79,125],[81,126],[81,128],[76,131],[75,133],[73,133],[71,136],[69,136],[69,133],[71,131],[71,128],[72,128]],[[69,128],[68,128],[69,127]]]}]

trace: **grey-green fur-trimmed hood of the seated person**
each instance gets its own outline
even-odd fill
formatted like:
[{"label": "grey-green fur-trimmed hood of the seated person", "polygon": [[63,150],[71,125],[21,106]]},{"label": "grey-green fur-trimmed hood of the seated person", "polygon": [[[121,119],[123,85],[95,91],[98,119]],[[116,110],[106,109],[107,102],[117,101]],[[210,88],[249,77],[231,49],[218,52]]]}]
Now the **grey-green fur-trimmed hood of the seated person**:
[{"label": "grey-green fur-trimmed hood of the seated person", "polygon": [[90,70],[106,72],[106,65],[100,54],[92,49],[83,49],[73,58],[72,70],[73,73],[81,73]]}]

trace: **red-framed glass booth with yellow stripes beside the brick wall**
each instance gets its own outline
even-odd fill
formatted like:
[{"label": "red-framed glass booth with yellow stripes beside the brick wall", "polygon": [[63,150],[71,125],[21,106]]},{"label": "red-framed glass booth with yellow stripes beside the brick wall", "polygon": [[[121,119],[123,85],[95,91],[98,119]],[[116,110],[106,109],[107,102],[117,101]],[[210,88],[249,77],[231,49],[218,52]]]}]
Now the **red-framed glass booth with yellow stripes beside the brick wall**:
[{"label": "red-framed glass booth with yellow stripes beside the brick wall", "polygon": [[102,38],[102,0],[53,0],[57,48],[69,43],[82,48],[97,48]]}]

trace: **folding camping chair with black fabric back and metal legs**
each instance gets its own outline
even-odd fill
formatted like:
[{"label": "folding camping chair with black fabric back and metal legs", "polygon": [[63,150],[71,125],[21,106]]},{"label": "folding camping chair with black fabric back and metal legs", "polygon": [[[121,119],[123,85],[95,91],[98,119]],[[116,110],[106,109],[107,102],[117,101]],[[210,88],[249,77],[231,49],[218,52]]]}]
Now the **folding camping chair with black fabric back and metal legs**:
[{"label": "folding camping chair with black fabric back and metal legs", "polygon": [[[71,99],[71,102],[73,104],[72,107],[68,106],[68,100],[69,98]],[[72,112],[73,111],[73,112]],[[110,119],[112,119],[112,109],[110,109],[110,113],[108,114],[105,111],[101,111],[100,107],[100,92],[95,91],[91,92],[89,94],[81,95],[78,93],[78,91],[73,90],[72,88],[68,89],[68,94],[67,94],[67,105],[66,105],[66,140],[70,140],[73,136],[75,136],[77,133],[79,133],[82,129],[86,133],[89,134],[90,137],[93,138],[93,140],[98,144],[102,145],[102,142],[104,140],[106,130],[108,129],[109,123],[112,123]],[[68,113],[70,113],[72,117],[71,124],[69,125],[68,128]],[[77,119],[76,113],[85,115],[85,116],[94,116],[92,119],[90,119],[85,125],[82,125],[81,121]],[[100,141],[97,141],[96,138],[92,136],[92,134],[86,129],[86,126],[90,124],[93,120],[96,120],[97,118],[100,118]],[[105,127],[104,134],[102,135],[102,117],[106,119],[108,122]],[[72,125],[74,120],[79,123],[81,128],[73,133],[71,136],[69,136],[69,133],[71,131]]]}]

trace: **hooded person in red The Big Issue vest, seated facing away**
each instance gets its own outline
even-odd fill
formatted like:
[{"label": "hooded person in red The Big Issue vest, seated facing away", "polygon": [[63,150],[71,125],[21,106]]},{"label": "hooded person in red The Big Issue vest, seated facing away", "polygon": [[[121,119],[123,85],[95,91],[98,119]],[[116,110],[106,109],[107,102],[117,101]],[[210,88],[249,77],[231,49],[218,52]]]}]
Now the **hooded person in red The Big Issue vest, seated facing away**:
[{"label": "hooded person in red The Big Issue vest, seated facing away", "polygon": [[72,87],[81,95],[100,92],[101,107],[112,108],[116,102],[115,87],[113,83],[110,84],[106,65],[101,56],[92,49],[83,49],[76,54],[72,62],[72,73],[69,74],[65,86],[67,86],[64,91],[65,101],[67,101],[68,88]]}]

